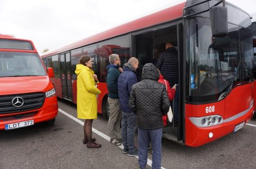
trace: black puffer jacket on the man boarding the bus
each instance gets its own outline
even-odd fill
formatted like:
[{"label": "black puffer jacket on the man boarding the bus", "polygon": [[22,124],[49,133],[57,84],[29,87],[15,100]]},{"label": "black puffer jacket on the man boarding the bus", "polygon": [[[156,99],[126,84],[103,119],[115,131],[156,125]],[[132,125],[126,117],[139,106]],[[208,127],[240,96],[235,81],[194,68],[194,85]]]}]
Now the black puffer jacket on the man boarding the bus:
[{"label": "black puffer jacket on the man boarding the bus", "polygon": [[168,48],[159,55],[156,67],[171,87],[178,83],[178,53],[174,47]]}]

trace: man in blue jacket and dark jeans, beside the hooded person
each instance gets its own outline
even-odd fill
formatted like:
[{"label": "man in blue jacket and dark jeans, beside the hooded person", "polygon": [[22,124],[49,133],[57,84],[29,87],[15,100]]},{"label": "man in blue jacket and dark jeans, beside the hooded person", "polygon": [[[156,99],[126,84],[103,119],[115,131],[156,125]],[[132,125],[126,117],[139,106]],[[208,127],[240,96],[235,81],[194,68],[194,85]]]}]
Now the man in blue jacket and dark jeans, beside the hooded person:
[{"label": "man in blue jacket and dark jeans, beside the hooded person", "polygon": [[136,69],[139,66],[139,61],[135,57],[131,57],[128,63],[124,64],[123,73],[118,78],[118,94],[121,106],[121,126],[122,126],[122,141],[124,145],[123,153],[128,153],[129,156],[137,156],[138,151],[135,149],[134,137],[136,126],[136,115],[132,112],[129,105],[130,93],[132,85],[138,82]]}]

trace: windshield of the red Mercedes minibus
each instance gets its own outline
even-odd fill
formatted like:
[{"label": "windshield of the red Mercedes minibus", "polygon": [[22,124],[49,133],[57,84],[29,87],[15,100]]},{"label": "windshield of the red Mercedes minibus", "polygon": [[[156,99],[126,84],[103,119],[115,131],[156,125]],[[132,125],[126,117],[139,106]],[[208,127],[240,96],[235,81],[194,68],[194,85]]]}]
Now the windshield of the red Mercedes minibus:
[{"label": "windshield of the red Mercedes minibus", "polygon": [[46,76],[36,53],[0,51],[0,77]]}]

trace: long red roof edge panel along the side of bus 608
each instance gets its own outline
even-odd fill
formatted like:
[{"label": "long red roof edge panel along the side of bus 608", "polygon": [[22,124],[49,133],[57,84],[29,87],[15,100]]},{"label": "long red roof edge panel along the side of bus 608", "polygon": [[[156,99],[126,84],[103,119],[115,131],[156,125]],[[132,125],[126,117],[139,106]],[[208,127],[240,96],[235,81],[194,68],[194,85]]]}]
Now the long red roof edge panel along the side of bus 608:
[{"label": "long red roof edge panel along the side of bus 608", "polygon": [[172,21],[174,19],[182,17],[182,10],[184,6],[185,6],[185,2],[175,6],[171,6],[170,8],[155,12],[148,16],[144,16],[142,18],[136,19],[135,21],[131,21],[131,22],[119,25],[118,27],[84,38],[80,41],[68,44],[67,46],[47,51],[46,53],[43,53],[40,55],[42,58],[47,56],[52,56],[55,54],[63,53],[68,50],[86,46],[88,44],[107,40],[108,38],[111,38],[111,37],[127,34],[132,31],[149,28],[153,25]]}]

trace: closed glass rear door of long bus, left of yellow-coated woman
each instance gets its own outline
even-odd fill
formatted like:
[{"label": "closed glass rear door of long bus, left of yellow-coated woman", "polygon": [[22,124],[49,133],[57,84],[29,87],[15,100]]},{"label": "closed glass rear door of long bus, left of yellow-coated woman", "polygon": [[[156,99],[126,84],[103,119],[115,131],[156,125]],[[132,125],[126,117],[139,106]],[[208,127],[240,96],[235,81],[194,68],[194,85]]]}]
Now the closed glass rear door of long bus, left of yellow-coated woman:
[{"label": "closed glass rear door of long bus, left of yellow-coated woman", "polygon": [[61,66],[61,85],[62,85],[63,99],[73,101],[70,53],[65,53],[60,55],[60,66]]}]

